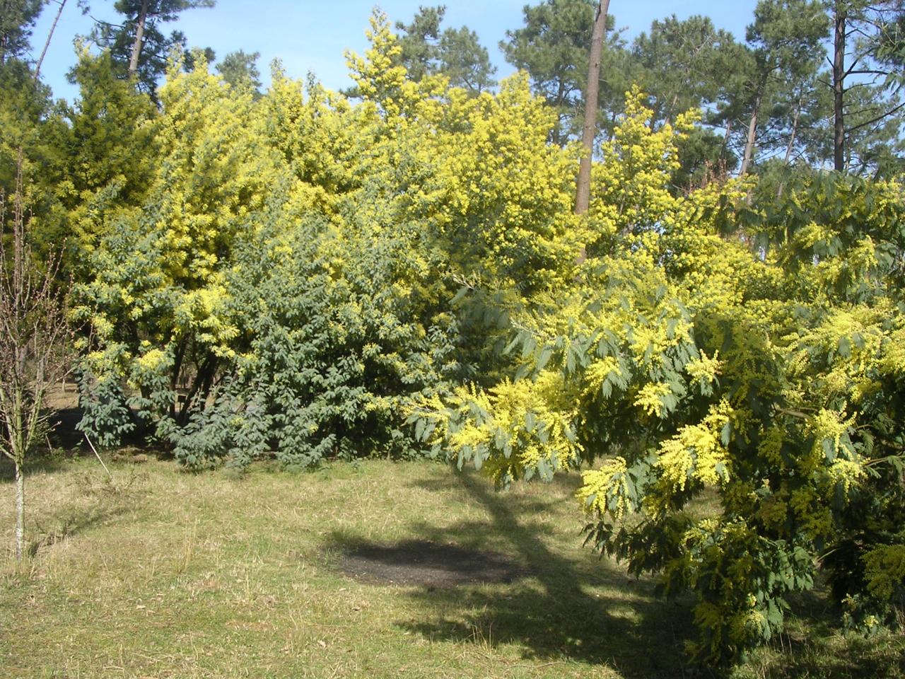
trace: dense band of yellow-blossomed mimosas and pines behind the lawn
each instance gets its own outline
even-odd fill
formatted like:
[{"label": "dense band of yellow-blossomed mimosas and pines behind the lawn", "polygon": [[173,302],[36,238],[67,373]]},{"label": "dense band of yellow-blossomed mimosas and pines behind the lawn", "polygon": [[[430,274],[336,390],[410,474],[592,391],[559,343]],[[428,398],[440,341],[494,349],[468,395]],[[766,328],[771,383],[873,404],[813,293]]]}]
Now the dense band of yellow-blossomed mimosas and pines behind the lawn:
[{"label": "dense band of yellow-blossomed mimosas and pines behind the lawn", "polygon": [[193,470],[580,469],[588,540],[691,590],[713,665],[776,635],[821,569],[846,626],[895,623],[900,4],[763,0],[744,43],[702,17],[611,33],[580,216],[585,0],[527,7],[500,83],[441,9],[398,36],[377,13],[345,93],[279,63],[262,91],[253,54],[212,68],[155,27],[210,3],[151,3],[131,21],[157,46],[102,28],[71,106],[33,77],[40,7],[20,5],[0,182],[35,269],[71,281],[92,440]]}]

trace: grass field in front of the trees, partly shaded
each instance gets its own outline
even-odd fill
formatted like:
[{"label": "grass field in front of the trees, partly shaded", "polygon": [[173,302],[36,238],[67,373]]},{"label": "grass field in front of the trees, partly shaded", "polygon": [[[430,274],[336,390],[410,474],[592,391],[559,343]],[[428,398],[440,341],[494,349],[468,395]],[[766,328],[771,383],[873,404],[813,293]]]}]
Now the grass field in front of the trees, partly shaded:
[{"label": "grass field in front of the trees, partly shaded", "polygon": [[[0,677],[694,675],[690,602],[582,548],[575,476],[497,493],[427,463],[109,464],[112,480],[91,458],[33,466],[22,565],[3,468]],[[387,581],[413,545],[490,555],[510,577],[456,584],[462,559],[427,554],[423,581]],[[382,570],[358,559],[349,576],[350,554]],[[793,620],[736,676],[905,676],[902,637],[846,640],[819,597],[803,605],[817,621]]]}]

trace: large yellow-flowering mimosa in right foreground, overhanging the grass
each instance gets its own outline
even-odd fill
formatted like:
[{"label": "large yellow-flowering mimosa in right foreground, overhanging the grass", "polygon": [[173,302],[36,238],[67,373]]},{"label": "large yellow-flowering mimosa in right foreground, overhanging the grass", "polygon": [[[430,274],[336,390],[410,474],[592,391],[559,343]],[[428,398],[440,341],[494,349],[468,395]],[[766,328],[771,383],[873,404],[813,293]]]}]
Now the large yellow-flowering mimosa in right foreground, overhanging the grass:
[{"label": "large yellow-flowering mimosa in right foreground, overhanging the grass", "polygon": [[[675,134],[630,97],[580,276],[513,316],[515,381],[414,417],[510,483],[591,463],[589,540],[691,589],[694,655],[737,661],[827,570],[863,627],[899,601],[900,186],[787,173],[667,190]],[[749,202],[743,198],[749,194]],[[701,499],[715,495],[701,512]]]}]

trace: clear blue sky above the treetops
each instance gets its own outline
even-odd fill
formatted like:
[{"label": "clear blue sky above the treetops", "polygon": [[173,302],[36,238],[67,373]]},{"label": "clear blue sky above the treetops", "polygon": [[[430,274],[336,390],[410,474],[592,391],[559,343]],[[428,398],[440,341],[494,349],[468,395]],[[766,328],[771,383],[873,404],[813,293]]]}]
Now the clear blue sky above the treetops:
[{"label": "clear blue sky above the treetops", "polygon": [[[539,0],[530,0],[536,5]],[[375,4],[390,19],[409,21],[418,5],[441,5],[436,0],[217,0],[213,9],[186,11],[173,24],[165,25],[169,33],[178,29],[186,33],[191,45],[213,47],[218,57],[234,50],[260,52],[258,67],[268,81],[269,63],[279,57],[286,72],[295,78],[303,78],[314,72],[319,81],[330,89],[349,84],[343,53],[347,49],[358,53],[367,48],[365,29],[371,9]],[[499,77],[512,72],[500,53],[497,43],[507,30],[522,25],[522,7],[526,0],[448,0],[444,26],[467,25],[476,31],[497,66]],[[115,20],[112,0],[90,0],[90,14],[104,20]],[[654,19],[670,14],[685,18],[692,14],[706,14],[719,28],[725,28],[742,38],[745,26],[751,21],[756,0],[611,0],[610,12],[616,18],[617,28],[625,28],[625,35],[647,30]],[[40,53],[47,31],[52,23],[56,5],[44,9],[35,27],[32,44],[34,53]],[[75,62],[72,47],[76,35],[90,33],[91,18],[82,15],[69,0],[56,32],[51,48],[45,57],[43,80],[51,85],[54,96],[72,99],[77,91],[66,82],[66,72]]]}]

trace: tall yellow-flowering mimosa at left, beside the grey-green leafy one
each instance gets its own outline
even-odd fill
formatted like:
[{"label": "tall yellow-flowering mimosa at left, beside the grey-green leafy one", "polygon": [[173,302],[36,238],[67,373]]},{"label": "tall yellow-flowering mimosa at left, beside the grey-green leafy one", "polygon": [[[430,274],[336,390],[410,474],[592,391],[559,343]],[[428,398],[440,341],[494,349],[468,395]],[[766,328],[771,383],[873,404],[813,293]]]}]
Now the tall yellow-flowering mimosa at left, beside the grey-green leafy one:
[{"label": "tall yellow-flowering mimosa at left, beside the grey-green leafy one", "polygon": [[[228,90],[202,62],[174,75],[160,96],[154,175],[139,206],[90,215],[100,242],[88,253],[77,311],[98,345],[86,357],[90,372],[127,383],[145,424],[165,435],[230,355],[238,330],[226,315],[224,269],[278,175],[262,137],[243,134],[249,92]],[[188,400],[177,404],[177,390]]]}]

